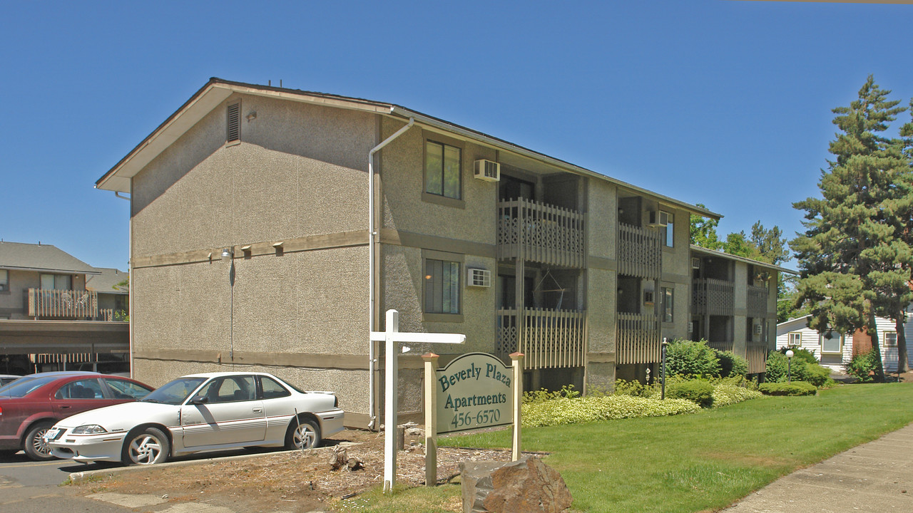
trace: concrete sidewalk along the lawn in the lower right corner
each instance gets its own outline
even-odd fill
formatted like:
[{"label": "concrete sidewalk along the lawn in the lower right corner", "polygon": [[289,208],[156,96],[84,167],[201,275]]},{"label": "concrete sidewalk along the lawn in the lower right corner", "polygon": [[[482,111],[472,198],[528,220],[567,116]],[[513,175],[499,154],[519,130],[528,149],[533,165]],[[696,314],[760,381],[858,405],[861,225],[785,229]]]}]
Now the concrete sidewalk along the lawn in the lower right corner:
[{"label": "concrete sidewalk along the lawn in the lower right corner", "polygon": [[913,424],[783,476],[723,511],[913,511]]}]

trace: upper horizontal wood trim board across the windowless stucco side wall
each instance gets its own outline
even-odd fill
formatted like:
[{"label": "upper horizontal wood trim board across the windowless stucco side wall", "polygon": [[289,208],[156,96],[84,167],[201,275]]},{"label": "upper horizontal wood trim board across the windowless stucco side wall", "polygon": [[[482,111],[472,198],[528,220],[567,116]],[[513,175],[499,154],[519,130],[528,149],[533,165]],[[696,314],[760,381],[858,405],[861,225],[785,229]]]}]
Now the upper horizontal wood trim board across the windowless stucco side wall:
[{"label": "upper horizontal wood trim board across the windowless stucco side wall", "polygon": [[[281,242],[281,249],[275,244]],[[340,232],[336,234],[321,234],[319,236],[303,236],[286,240],[256,242],[251,244],[238,244],[232,247],[235,258],[268,257],[300,251],[314,251],[317,249],[332,249],[334,247],[367,246],[368,231],[356,230],[354,232]],[[245,251],[242,247],[249,248]],[[195,249],[182,253],[168,253],[151,255],[147,257],[133,257],[133,268],[179,266],[183,264],[198,264],[202,262],[217,261],[222,256],[225,246],[210,249]]]}]

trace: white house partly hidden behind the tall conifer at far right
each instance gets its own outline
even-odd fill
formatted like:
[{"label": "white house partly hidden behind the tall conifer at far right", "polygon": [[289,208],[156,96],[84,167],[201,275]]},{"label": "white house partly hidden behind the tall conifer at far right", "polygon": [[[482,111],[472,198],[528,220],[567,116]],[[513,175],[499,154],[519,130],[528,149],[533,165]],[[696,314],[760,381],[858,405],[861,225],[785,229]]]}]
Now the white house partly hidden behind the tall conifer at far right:
[{"label": "white house partly hidden behind the tall conifer at far right", "polygon": [[[808,327],[811,316],[789,319],[777,325],[778,348],[801,348],[811,351],[825,367],[834,371],[845,370],[855,354],[872,348],[872,339],[863,331],[852,335],[832,332],[820,333]],[[897,372],[897,325],[891,319],[877,317],[878,344],[881,363],[885,372]],[[913,317],[904,324],[906,340],[913,336]]]}]

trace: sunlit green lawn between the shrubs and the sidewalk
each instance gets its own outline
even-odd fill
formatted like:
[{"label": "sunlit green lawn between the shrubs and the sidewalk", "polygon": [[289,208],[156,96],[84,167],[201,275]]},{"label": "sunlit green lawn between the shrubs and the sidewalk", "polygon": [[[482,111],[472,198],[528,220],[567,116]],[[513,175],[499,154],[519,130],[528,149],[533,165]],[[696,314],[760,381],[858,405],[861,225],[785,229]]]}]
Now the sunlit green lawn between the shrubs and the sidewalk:
[{"label": "sunlit green lawn between the shrubs and the sidewalk", "polygon": [[[913,422],[913,383],[844,385],[810,397],[765,397],[672,417],[523,430],[523,449],[548,451],[580,511],[693,512],[722,508],[783,476]],[[509,431],[441,445],[509,447]],[[411,510],[440,511],[441,494],[406,490]],[[417,508],[427,497],[427,508]],[[371,500],[363,511],[396,510]],[[393,509],[388,509],[394,507]]]}]

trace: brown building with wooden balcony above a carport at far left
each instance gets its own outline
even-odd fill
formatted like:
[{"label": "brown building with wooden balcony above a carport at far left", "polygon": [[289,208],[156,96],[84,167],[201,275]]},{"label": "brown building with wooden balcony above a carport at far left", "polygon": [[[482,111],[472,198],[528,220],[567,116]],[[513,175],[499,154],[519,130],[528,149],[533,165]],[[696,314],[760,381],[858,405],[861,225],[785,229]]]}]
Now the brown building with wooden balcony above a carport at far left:
[{"label": "brown building with wooden balcony above a carport at far left", "polygon": [[0,242],[0,372],[85,368],[100,358],[129,370],[129,325],[102,319],[100,300],[110,295],[87,287],[104,274],[55,246]]}]

